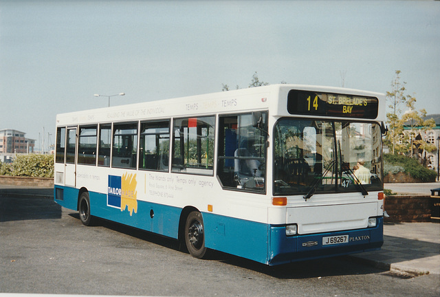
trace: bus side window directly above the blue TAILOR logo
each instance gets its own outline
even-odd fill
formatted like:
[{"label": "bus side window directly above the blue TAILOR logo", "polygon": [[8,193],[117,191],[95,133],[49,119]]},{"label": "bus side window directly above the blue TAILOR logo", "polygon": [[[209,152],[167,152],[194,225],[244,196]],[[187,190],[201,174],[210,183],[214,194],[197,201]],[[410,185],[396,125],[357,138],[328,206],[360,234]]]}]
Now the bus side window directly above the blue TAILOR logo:
[{"label": "bus side window directly above the blue TAILOR logo", "polygon": [[137,123],[113,124],[113,156],[111,166],[136,168]]}]

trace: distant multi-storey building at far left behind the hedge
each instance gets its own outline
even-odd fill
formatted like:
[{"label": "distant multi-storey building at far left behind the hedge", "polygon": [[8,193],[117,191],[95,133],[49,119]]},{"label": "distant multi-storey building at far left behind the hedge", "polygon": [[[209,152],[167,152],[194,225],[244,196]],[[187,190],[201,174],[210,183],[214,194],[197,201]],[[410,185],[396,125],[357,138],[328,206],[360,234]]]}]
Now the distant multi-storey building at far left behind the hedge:
[{"label": "distant multi-storey building at far left behind the hedge", "polygon": [[33,153],[35,140],[14,129],[0,129],[0,161],[9,162],[17,153]]}]

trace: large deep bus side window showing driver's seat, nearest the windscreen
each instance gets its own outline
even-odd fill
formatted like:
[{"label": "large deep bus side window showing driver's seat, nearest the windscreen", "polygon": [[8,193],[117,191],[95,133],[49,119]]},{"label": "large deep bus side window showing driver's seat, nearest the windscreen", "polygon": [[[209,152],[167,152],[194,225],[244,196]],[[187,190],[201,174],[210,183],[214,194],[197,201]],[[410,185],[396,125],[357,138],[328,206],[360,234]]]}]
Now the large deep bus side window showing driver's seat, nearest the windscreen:
[{"label": "large deep bus side window showing driver's seat, nearest the windscreen", "polygon": [[266,135],[252,124],[250,113],[219,118],[217,175],[224,187],[264,192]]}]

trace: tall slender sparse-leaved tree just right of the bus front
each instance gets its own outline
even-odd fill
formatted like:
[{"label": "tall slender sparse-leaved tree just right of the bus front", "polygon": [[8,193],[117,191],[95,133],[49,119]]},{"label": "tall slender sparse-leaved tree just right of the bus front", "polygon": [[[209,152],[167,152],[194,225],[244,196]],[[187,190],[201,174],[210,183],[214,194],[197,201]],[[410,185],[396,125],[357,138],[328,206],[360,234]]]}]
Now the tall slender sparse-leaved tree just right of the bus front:
[{"label": "tall slender sparse-leaved tree just right of the bus front", "polygon": [[400,83],[400,70],[395,71],[395,78],[391,81],[392,91],[386,92],[386,99],[390,102],[388,105],[391,108],[390,113],[386,113],[386,118],[388,120],[388,125],[390,126],[390,131],[386,135],[386,144],[393,146],[393,155],[395,154],[396,144],[398,142],[399,135],[403,133],[403,124],[399,120],[399,115],[401,115],[401,110],[399,105],[406,100],[406,83]]}]

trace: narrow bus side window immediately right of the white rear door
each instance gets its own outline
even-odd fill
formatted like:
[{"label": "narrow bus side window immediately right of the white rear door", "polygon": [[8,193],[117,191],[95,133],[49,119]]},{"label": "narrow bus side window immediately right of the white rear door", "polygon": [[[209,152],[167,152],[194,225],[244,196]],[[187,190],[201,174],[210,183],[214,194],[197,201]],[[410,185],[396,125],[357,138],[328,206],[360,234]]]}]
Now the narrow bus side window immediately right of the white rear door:
[{"label": "narrow bus side window immediately right of the white rear door", "polygon": [[96,165],[96,126],[80,126],[78,164]]}]

